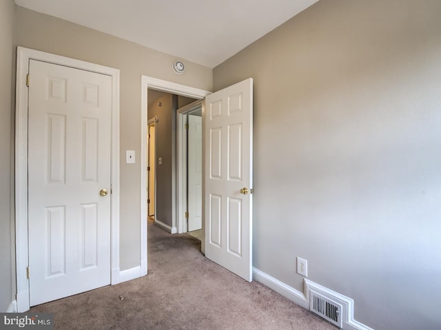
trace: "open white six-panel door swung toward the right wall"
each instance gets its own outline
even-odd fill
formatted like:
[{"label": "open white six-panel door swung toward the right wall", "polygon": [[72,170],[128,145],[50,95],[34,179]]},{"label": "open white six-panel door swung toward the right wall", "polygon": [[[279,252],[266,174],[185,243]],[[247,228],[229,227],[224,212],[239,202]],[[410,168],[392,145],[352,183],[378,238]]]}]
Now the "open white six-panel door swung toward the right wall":
[{"label": "open white six-panel door swung toward the right wall", "polygon": [[205,256],[252,281],[253,80],[205,98]]}]

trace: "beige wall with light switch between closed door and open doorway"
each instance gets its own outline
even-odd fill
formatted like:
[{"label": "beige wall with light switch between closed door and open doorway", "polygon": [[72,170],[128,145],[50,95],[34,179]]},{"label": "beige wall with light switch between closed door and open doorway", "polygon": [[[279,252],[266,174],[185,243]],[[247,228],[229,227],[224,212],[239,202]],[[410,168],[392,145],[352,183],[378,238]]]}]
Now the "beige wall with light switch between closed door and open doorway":
[{"label": "beige wall with light switch between closed door and open doorway", "polygon": [[[2,23],[3,24],[3,23]],[[140,263],[141,168],[125,164],[125,150],[141,155],[141,75],[199,89],[212,89],[212,69],[185,63],[185,74],[172,70],[174,56],[32,10],[16,7],[14,45],[68,56],[121,70],[121,270]]]}]

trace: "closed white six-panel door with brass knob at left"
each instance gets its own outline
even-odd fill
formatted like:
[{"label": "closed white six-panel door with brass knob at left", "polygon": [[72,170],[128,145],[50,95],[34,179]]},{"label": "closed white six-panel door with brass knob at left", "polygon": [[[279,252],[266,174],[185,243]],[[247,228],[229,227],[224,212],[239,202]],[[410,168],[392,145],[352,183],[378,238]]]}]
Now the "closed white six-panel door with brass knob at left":
[{"label": "closed white six-panel door with brass knob at left", "polygon": [[110,284],[112,78],[34,60],[29,74],[33,306]]}]

